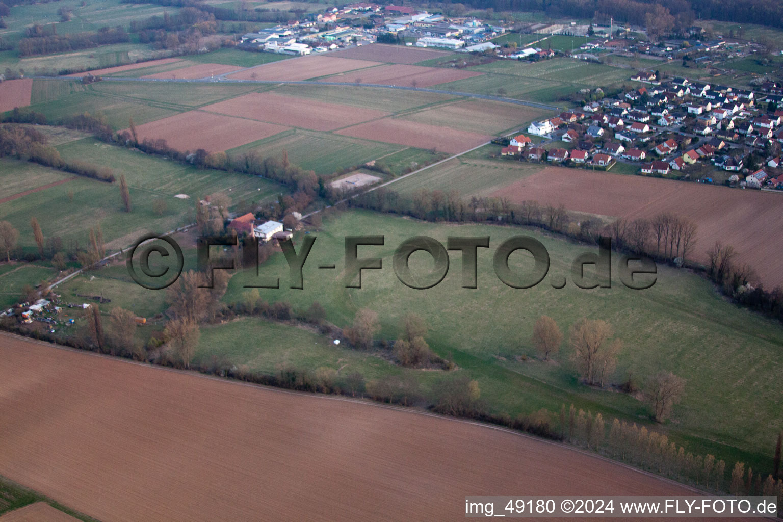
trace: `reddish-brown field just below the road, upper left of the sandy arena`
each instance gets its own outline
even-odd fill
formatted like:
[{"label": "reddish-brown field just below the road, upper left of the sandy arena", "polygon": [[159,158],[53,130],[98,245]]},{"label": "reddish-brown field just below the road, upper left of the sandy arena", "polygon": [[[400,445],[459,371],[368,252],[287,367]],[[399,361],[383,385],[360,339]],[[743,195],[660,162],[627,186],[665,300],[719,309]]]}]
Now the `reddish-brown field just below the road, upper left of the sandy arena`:
[{"label": "reddish-brown field just below the road, upper left of the sandy arena", "polygon": [[388,113],[373,109],[359,109],[339,103],[319,102],[315,99],[251,92],[202,107],[215,113],[252,118],[259,121],[309,128],[314,131],[331,131],[362,121],[387,116]]}]

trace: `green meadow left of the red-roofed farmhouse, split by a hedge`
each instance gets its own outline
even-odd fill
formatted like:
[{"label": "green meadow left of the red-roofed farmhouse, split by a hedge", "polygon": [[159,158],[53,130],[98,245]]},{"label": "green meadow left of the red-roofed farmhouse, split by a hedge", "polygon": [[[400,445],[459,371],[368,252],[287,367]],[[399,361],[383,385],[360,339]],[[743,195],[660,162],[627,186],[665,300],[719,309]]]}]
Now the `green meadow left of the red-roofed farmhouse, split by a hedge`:
[{"label": "green meadow left of the red-roofed farmhouse, split by a hedge", "polygon": [[[0,203],[0,221],[11,221],[20,230],[20,246],[26,250],[34,250],[33,236],[29,232],[32,216],[38,219],[45,237],[60,236],[66,247],[70,242],[84,246],[88,229],[101,225],[106,247],[112,250],[127,247],[142,232],[168,232],[190,223],[196,198],[226,193],[234,204],[259,202],[276,196],[282,187],[263,178],[199,170],[92,138],[67,142],[58,149],[65,160],[110,164],[116,175],[124,174],[130,186],[133,211],[128,214],[121,208],[117,183],[99,182],[4,158],[0,160],[0,180],[8,180],[13,194],[40,188]],[[191,199],[174,197],[180,193]],[[153,211],[153,202],[158,199],[166,202],[163,214]],[[47,208],[60,211],[41,211]]]}]

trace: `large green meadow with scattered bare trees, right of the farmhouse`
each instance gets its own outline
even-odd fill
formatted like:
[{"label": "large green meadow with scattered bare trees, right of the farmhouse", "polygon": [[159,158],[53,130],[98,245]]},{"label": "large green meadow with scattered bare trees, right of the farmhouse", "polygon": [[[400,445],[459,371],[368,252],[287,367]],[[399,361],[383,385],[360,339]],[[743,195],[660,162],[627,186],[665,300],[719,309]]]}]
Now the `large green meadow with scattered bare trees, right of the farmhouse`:
[{"label": "large green meadow with scattered bare trees, right of the farmhouse", "polygon": [[[638,419],[637,416],[644,416],[645,407],[636,398],[579,385],[570,348],[561,349],[556,364],[545,364],[534,357],[529,341],[532,323],[542,313],[557,318],[565,330],[579,317],[600,317],[612,324],[616,338],[623,344],[618,368],[612,374],[614,382],[622,382],[629,372],[644,381],[661,369],[669,369],[687,380],[684,399],[673,423],[666,426],[669,434],[687,438],[702,448],[709,447],[709,452],[725,451],[711,446],[710,441],[720,441],[731,445],[733,452],[747,453],[751,459],[759,451],[771,455],[774,436],[783,425],[777,407],[781,389],[775,385],[783,362],[783,333],[774,322],[724,301],[705,279],[659,266],[657,283],[644,291],[629,290],[619,282],[612,289],[580,290],[569,284],[555,290],[548,279],[532,289],[512,290],[494,275],[492,255],[480,252],[479,290],[460,290],[459,254],[453,253],[453,268],[442,283],[429,290],[412,290],[403,286],[391,266],[387,266],[402,239],[431,236],[445,242],[446,236],[453,235],[491,236],[494,248],[520,231],[464,225],[457,232],[453,225],[363,211],[339,214],[324,223],[309,266],[305,266],[305,290],[287,290],[287,266],[278,255],[264,265],[262,272],[280,274],[281,289],[263,290],[263,298],[270,302],[289,301],[301,309],[319,301],[327,310],[327,319],[337,326],[350,324],[357,309],[371,308],[381,318],[381,337],[389,339],[398,335],[397,323],[403,313],[421,315],[431,329],[431,347],[476,376],[485,391],[482,396],[495,411],[510,412],[512,416],[541,407],[557,411],[562,401],[577,401],[579,407],[602,411],[604,416]],[[361,256],[383,258],[384,270],[364,272],[362,289],[345,289],[342,270],[330,277],[316,268],[324,262],[336,262],[341,268],[344,236],[377,231],[383,231],[386,246],[363,247]],[[585,250],[538,232],[525,233],[547,247],[554,277],[567,274],[571,261]],[[417,255],[411,257],[413,271],[429,269],[428,257]],[[513,262],[525,261],[520,257]],[[251,281],[250,275],[234,275],[224,301],[240,299],[245,291],[242,286]],[[471,293],[471,298],[455,298],[454,293],[460,292]],[[520,293],[525,294],[528,311],[519,308]],[[493,319],[482,319],[486,317]],[[676,337],[672,337],[673,332]],[[729,385],[716,389],[715,380]],[[743,383],[742,387],[739,383]],[[753,409],[745,407],[750,403],[755,405]],[[718,412],[720,423],[714,420]]]}]

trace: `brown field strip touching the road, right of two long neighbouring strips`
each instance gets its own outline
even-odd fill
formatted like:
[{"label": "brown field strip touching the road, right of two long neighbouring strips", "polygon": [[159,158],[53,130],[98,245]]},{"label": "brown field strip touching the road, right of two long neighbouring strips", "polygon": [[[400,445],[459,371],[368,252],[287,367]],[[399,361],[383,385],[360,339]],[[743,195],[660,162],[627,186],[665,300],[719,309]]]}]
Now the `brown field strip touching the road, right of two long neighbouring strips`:
[{"label": "brown field strip touching the road, right of two long neighbouring strips", "polygon": [[471,70],[439,69],[438,67],[419,67],[417,65],[384,65],[350,73],[335,74],[323,81],[350,81],[363,84],[403,85],[410,87],[430,87],[446,81],[464,80],[483,73]]}]

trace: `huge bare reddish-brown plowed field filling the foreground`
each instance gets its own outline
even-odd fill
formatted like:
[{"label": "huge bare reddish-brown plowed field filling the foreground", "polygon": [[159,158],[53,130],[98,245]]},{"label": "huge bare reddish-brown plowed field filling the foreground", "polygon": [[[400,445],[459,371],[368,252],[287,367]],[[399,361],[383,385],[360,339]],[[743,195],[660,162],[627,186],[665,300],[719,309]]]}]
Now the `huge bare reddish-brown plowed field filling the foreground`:
[{"label": "huge bare reddish-brown plowed field filling the foreground", "polygon": [[464,495],[691,494],[453,419],[7,334],[0,360],[0,474],[103,522],[463,520]]}]

